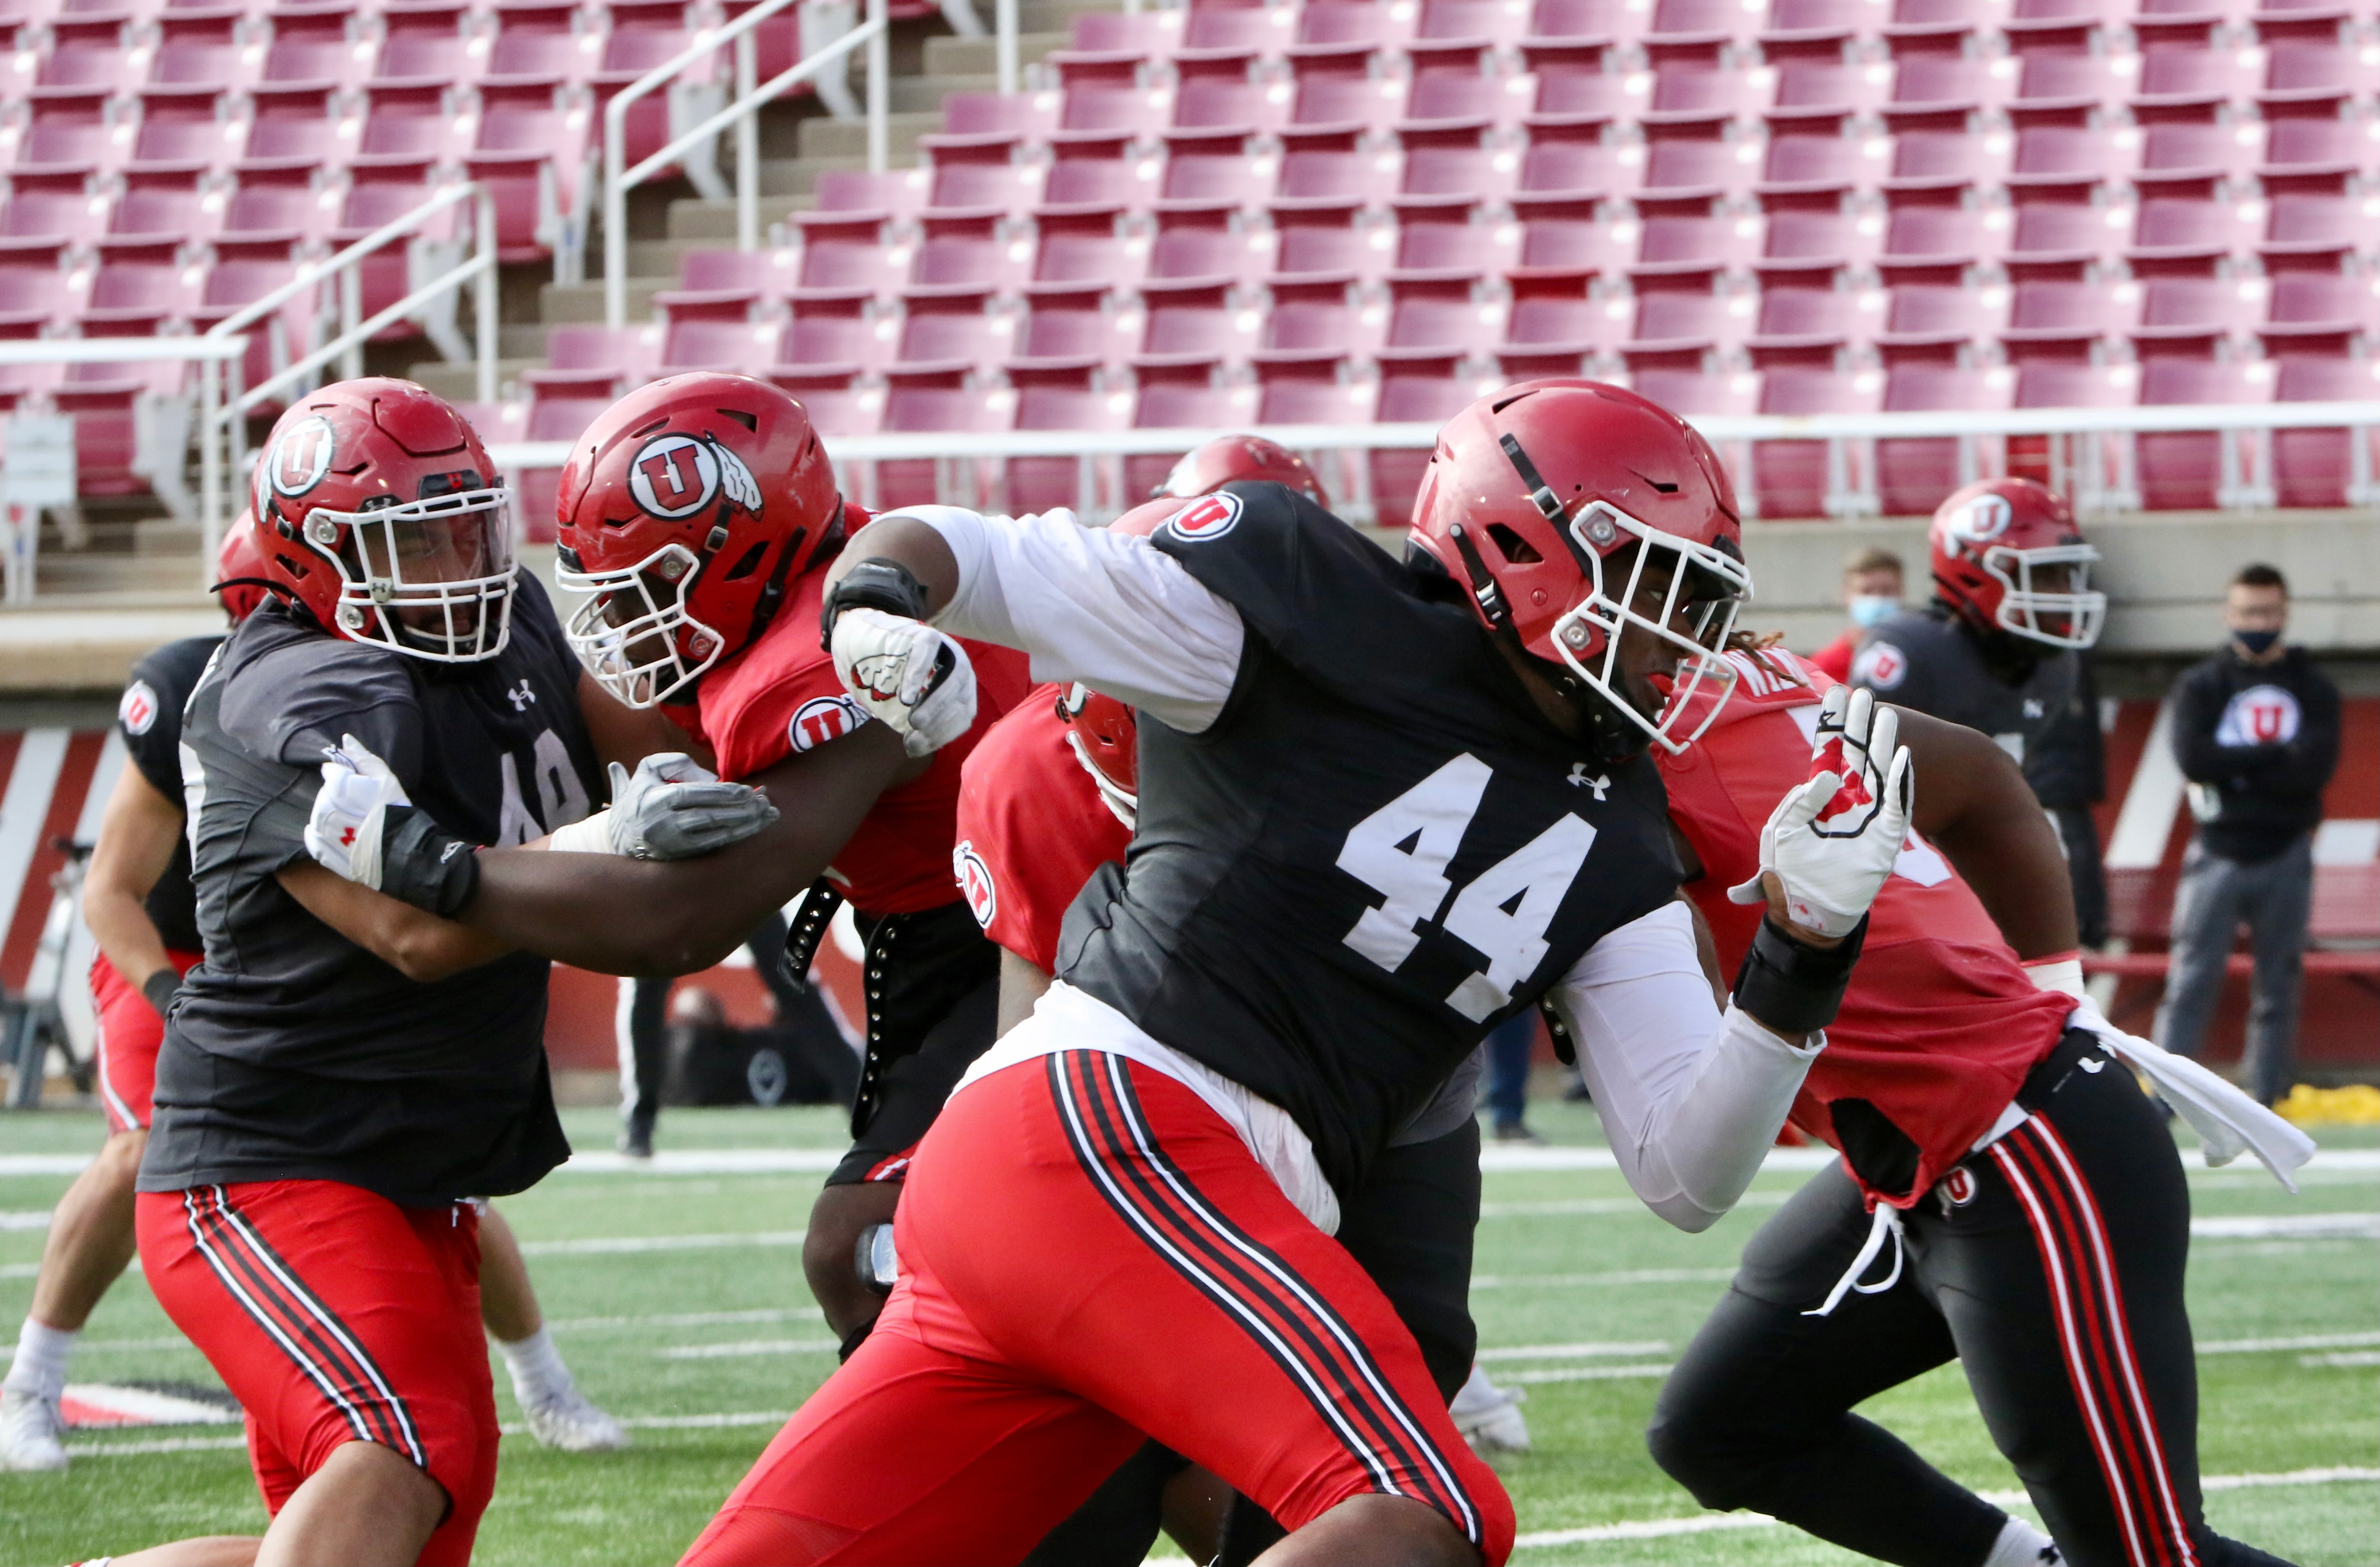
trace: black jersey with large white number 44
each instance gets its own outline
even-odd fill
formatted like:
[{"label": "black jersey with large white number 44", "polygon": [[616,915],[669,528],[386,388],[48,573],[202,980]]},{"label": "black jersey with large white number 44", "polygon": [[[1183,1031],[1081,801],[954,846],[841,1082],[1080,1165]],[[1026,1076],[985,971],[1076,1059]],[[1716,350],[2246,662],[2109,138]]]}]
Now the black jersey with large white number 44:
[{"label": "black jersey with large white number 44", "polygon": [[1302,495],[1200,517],[1152,543],[1240,612],[1238,679],[1202,733],[1140,714],[1140,826],[1059,974],[1288,1110],[1345,1195],[1488,1029],[1673,895],[1666,795]]}]

